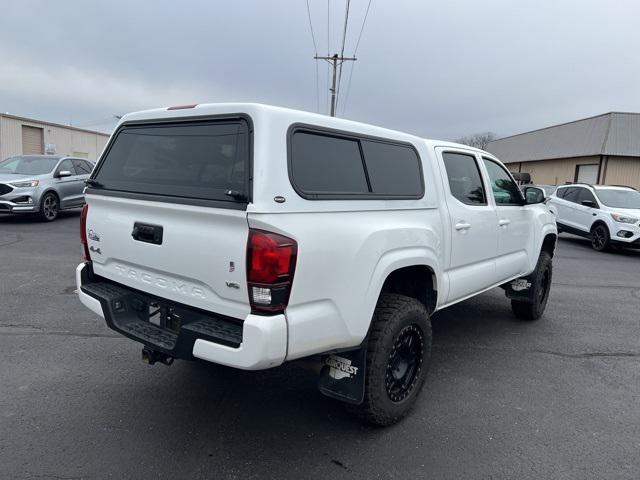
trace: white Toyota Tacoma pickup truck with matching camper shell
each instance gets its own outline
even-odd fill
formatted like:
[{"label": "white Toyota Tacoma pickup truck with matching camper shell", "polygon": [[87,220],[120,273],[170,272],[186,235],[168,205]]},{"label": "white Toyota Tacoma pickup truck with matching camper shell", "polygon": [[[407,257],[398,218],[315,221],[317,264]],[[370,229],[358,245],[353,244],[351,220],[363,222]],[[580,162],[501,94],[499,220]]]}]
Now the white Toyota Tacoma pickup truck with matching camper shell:
[{"label": "white Toyota Tacoma pickup truck with matching camper shell", "polygon": [[487,152],[362,123],[131,113],[87,181],[78,294],[149,363],[311,360],[321,392],[387,425],[422,389],[436,311],[501,286],[518,318],[542,315],[543,200]]}]

